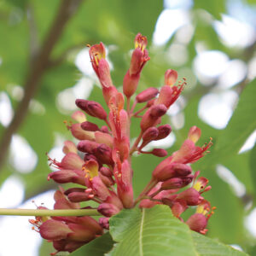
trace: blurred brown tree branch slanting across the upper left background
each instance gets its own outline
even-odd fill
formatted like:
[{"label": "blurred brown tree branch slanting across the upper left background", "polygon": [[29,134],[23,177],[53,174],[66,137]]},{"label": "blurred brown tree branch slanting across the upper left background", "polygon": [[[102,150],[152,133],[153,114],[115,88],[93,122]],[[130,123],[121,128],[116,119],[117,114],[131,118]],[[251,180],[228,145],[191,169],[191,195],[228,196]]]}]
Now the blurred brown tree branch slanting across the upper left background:
[{"label": "blurred brown tree branch slanting across the upper left background", "polygon": [[18,131],[20,125],[26,117],[29,102],[38,90],[40,81],[44,76],[49,63],[49,56],[55,47],[58,39],[61,38],[61,33],[67,24],[67,21],[74,15],[79,4],[83,0],[61,0],[60,7],[55,15],[55,20],[49,28],[49,32],[44,39],[44,43],[32,61],[32,65],[27,74],[24,84],[25,94],[16,108],[15,116],[9,127],[3,132],[3,137],[0,142],[0,169],[3,166],[5,157],[8,153],[9,144],[13,134]]}]

